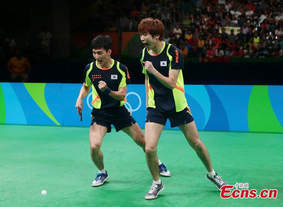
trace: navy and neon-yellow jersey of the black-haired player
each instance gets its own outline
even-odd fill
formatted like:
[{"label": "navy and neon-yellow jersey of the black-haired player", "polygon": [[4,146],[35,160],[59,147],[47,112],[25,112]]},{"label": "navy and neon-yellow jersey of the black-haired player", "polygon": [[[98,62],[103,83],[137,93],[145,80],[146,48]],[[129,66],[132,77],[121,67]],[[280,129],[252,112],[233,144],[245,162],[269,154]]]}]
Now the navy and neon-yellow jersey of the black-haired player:
[{"label": "navy and neon-yellow jersey of the black-haired player", "polygon": [[108,109],[123,106],[127,101],[118,101],[103,93],[98,88],[98,82],[104,81],[112,91],[119,91],[120,87],[130,84],[128,69],[118,61],[113,60],[109,68],[100,68],[97,61],[88,64],[85,68],[84,82],[92,87],[92,106],[95,109]]}]

